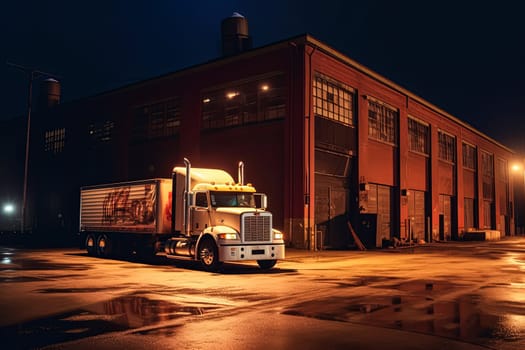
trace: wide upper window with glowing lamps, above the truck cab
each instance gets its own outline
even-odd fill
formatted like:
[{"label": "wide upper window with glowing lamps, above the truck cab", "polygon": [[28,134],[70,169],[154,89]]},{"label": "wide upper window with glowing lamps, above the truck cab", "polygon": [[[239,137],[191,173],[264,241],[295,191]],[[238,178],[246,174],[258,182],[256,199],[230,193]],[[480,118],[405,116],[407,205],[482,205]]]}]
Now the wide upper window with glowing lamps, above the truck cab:
[{"label": "wide upper window with glowing lamps, above the truck cab", "polygon": [[218,129],[283,119],[286,114],[284,74],[255,77],[202,94],[202,128]]}]

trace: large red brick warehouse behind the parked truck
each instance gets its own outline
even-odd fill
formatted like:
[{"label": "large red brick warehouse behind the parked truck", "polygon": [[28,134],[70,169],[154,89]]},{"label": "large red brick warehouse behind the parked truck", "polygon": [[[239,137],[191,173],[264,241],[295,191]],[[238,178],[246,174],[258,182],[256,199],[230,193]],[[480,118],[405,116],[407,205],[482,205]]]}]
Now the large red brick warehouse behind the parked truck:
[{"label": "large red brick warehouse behind the parked truck", "polygon": [[42,110],[33,229],[74,232],[80,186],[169,177],[187,157],[233,174],[243,160],[295,247],[347,247],[348,221],[374,247],[514,234],[510,149],[311,36],[241,46]]}]

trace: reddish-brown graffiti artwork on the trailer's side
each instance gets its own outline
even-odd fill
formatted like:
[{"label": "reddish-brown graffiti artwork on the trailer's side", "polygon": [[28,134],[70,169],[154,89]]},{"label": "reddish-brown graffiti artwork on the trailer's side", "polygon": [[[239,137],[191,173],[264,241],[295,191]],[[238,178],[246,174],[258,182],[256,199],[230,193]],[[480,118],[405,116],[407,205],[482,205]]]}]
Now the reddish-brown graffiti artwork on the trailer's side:
[{"label": "reddish-brown graffiti artwork on the trailer's side", "polygon": [[143,197],[130,200],[131,186],[115,188],[104,197],[105,225],[147,225],[155,222],[155,185],[145,184]]}]

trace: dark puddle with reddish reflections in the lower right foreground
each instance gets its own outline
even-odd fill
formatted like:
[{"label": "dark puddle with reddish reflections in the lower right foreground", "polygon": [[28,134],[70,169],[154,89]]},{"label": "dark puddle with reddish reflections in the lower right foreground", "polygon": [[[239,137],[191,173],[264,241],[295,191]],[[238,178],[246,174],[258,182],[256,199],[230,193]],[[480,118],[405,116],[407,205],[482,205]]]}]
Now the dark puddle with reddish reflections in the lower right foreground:
[{"label": "dark puddle with reddish reflections in the lower right foreground", "polygon": [[[421,332],[487,346],[502,341],[525,344],[525,316],[518,314],[519,310],[516,314],[486,310],[479,295],[455,293],[461,290],[460,285],[419,280],[388,289],[394,293],[332,296],[296,304],[284,313]],[[458,296],[453,300],[437,299],[433,293],[439,290]]]}]

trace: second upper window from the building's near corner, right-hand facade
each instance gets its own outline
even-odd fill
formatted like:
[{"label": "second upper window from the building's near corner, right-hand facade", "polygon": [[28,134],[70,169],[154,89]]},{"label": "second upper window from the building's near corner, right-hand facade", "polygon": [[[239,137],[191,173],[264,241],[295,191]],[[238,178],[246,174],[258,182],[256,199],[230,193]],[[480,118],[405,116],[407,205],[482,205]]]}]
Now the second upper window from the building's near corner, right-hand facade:
[{"label": "second upper window from the building's near corner, right-hand facade", "polygon": [[369,98],[368,137],[397,145],[397,117],[397,110]]}]

